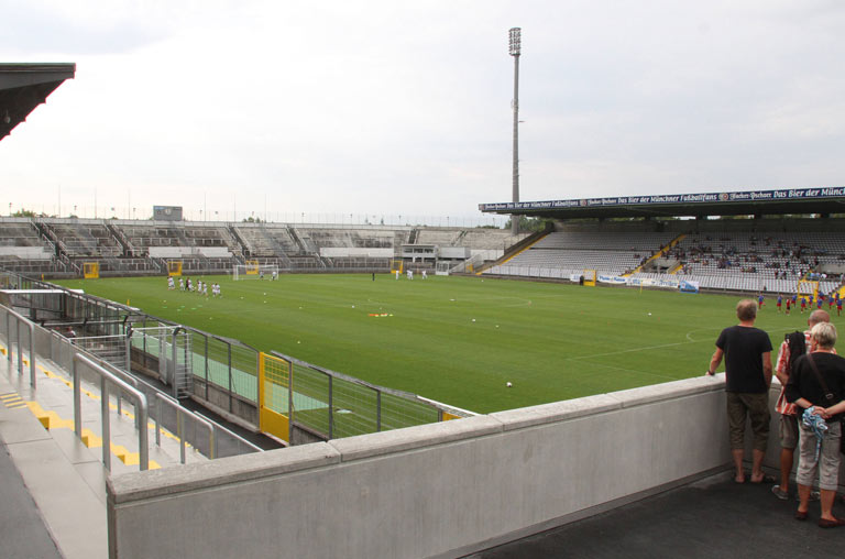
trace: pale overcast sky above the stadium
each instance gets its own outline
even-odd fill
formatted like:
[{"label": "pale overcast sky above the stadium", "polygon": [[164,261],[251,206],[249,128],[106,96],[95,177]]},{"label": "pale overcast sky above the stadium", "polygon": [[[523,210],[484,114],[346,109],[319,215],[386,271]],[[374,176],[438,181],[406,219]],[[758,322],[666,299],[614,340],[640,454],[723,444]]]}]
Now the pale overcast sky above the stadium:
[{"label": "pale overcast sky above the stadium", "polygon": [[512,26],[522,200],[845,184],[838,0],[0,0],[0,13],[2,62],[77,64],[0,142],[2,213],[61,199],[92,217],[96,199],[98,217],[480,218],[479,202],[512,196]]}]

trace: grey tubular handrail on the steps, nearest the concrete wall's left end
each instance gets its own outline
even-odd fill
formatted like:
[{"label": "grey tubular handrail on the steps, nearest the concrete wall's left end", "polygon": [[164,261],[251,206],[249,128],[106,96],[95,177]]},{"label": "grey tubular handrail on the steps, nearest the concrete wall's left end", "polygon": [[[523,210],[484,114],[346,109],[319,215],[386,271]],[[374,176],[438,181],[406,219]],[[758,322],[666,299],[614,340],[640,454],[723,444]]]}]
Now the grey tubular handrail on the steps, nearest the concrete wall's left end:
[{"label": "grey tubular handrail on the steps, nearest the concrete wall's left end", "polygon": [[74,379],[74,432],[80,439],[83,438],[83,396],[81,379],[79,377],[78,363],[87,365],[94,373],[100,377],[100,423],[102,425],[102,463],[106,469],[111,471],[111,425],[109,421],[109,383],[122,390],[130,396],[135,404],[135,418],[140,428],[138,429],[138,454],[139,467],[142,471],[150,469],[150,446],[147,440],[147,405],[146,396],[122,381],[118,375],[110,373],[103,366],[95,363],[81,353],[74,355],[73,379]]}]

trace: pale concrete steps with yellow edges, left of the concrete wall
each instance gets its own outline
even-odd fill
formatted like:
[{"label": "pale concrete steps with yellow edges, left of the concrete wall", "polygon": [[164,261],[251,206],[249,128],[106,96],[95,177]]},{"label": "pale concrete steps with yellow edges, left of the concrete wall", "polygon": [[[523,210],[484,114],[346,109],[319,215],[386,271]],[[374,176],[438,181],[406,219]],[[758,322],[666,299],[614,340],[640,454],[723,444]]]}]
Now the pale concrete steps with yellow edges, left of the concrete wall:
[{"label": "pale concrete steps with yellow edges, left of the concrete wall", "polygon": [[[110,404],[111,472],[102,463],[99,388],[83,383],[83,439],[74,432],[73,384],[55,363],[36,361],[36,388],[9,366],[0,344],[0,556],[108,557],[106,481],[139,469],[132,406]],[[179,465],[179,443],[147,424],[150,469]],[[175,457],[175,458],[174,458]],[[186,462],[207,460],[187,452]]]}]

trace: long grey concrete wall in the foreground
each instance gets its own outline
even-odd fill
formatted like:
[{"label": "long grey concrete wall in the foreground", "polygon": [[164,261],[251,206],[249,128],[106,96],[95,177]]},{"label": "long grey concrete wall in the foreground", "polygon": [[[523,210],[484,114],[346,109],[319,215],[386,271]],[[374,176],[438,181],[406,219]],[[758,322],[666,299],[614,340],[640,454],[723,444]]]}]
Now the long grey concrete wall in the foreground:
[{"label": "long grey concrete wall in the foreground", "polygon": [[724,470],[690,379],[109,483],[112,557],[457,556]]}]

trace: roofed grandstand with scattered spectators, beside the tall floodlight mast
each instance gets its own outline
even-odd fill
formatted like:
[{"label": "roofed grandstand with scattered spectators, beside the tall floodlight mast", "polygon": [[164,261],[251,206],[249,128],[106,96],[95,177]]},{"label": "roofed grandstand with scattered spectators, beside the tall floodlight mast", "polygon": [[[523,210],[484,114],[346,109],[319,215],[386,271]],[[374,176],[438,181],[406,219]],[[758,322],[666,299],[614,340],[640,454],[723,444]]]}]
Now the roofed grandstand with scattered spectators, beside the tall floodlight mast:
[{"label": "roofed grandstand with scattered spectators, beside the tall floodlight mast", "polygon": [[[845,281],[845,188],[482,204],[552,220],[541,239],[484,273],[742,293],[833,293]],[[837,217],[839,216],[839,217]]]}]

